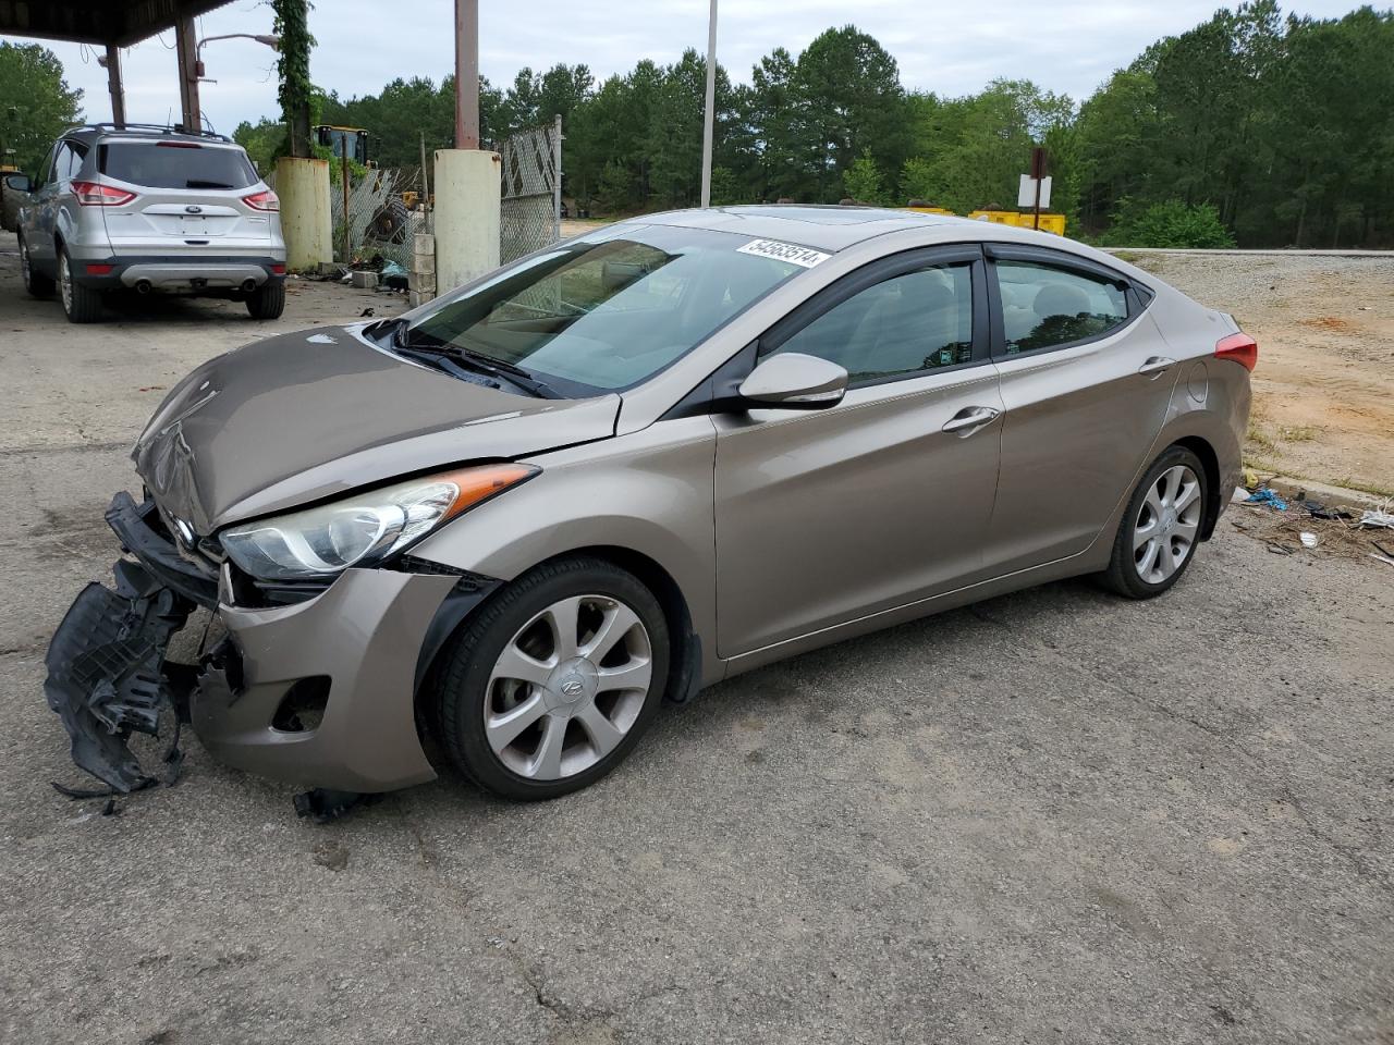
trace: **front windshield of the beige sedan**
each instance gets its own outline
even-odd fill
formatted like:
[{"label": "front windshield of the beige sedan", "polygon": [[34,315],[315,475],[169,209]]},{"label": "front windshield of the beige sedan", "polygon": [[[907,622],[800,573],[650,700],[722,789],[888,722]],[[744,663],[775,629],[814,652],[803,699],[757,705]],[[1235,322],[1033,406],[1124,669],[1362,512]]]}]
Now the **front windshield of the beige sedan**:
[{"label": "front windshield of the beige sedan", "polygon": [[519,366],[567,392],[627,389],[803,270],[740,252],[751,242],[705,229],[613,226],[445,300],[408,340]]}]

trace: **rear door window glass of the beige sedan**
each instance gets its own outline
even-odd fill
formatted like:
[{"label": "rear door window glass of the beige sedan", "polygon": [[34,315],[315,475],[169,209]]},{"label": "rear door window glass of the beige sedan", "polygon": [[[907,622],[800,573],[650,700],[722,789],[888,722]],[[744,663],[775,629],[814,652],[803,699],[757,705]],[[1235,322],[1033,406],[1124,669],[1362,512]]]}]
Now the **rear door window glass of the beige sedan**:
[{"label": "rear door window glass of the beige sedan", "polygon": [[1122,283],[1039,262],[994,268],[1008,355],[1087,341],[1128,322]]}]

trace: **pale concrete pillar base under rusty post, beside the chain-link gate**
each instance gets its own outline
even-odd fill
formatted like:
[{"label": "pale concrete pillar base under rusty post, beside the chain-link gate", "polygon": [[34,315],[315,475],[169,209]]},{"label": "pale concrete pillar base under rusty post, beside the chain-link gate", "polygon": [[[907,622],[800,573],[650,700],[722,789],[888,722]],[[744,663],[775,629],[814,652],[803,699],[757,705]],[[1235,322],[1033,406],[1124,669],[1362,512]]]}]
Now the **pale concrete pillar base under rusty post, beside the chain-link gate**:
[{"label": "pale concrete pillar base under rusty post, beside the chain-link gate", "polygon": [[438,149],[435,155],[436,291],[499,268],[496,152]]}]

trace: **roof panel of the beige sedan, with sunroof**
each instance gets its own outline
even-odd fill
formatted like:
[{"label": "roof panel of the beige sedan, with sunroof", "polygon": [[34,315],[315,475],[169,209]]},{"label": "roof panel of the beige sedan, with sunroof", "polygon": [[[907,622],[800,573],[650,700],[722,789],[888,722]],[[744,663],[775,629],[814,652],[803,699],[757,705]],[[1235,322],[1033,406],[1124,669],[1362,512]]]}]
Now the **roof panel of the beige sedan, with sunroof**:
[{"label": "roof panel of the beige sedan, with sunroof", "polygon": [[761,240],[785,240],[817,251],[841,251],[887,233],[927,229],[940,224],[977,222],[913,210],[875,206],[775,203],[768,206],[721,206],[707,210],[671,210],[644,215],[636,222],[687,229],[711,229]]}]

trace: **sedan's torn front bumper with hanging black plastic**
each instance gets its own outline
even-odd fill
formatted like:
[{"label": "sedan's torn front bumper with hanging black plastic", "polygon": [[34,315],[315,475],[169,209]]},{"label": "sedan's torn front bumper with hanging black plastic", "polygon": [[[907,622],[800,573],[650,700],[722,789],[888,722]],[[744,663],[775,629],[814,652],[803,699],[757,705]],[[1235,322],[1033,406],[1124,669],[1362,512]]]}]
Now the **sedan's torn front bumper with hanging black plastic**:
[{"label": "sedan's torn front bumper with hanging black plastic", "polygon": [[[78,766],[114,791],[149,786],[128,741],[158,734],[167,705],[220,761],[276,780],[361,794],[435,777],[415,695],[499,581],[407,557],[346,570],[290,603],[247,605],[227,564],[215,575],[180,555],[153,502],[120,493],[107,521],[134,560],[116,563],[114,589],[84,588],[45,660]],[[197,666],[167,660],[198,606],[226,637]]]}]

